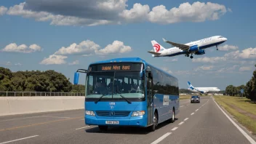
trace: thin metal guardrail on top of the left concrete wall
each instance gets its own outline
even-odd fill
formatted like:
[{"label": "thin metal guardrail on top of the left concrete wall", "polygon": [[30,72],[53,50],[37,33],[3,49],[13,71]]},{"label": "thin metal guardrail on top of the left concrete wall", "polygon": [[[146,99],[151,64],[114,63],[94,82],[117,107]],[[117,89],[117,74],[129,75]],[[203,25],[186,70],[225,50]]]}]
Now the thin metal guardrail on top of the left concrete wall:
[{"label": "thin metal guardrail on top of the left concrete wall", "polygon": [[0,97],[84,96],[84,92],[0,92]]}]

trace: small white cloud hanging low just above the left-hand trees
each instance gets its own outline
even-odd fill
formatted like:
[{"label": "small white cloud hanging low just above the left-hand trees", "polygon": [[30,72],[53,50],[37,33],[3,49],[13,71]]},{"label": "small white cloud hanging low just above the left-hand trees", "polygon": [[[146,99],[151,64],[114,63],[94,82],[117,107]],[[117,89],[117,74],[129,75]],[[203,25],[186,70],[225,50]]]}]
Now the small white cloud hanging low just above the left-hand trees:
[{"label": "small white cloud hanging low just above the left-hand trees", "polygon": [[65,64],[67,56],[63,55],[50,55],[48,58],[44,57],[44,60],[40,62],[41,65],[61,65]]}]

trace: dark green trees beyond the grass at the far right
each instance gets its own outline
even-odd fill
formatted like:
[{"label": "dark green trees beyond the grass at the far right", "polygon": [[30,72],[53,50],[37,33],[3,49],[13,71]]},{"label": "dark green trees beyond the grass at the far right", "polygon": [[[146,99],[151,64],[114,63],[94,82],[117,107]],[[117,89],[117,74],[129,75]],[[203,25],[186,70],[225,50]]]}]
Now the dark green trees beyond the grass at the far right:
[{"label": "dark green trees beyond the grass at the far right", "polygon": [[[256,67],[256,65],[255,65]],[[241,89],[244,89],[244,93],[241,93]],[[252,101],[256,101],[256,70],[252,73],[252,78],[247,81],[246,85],[241,85],[239,87],[235,87],[233,85],[229,85],[225,88],[225,95],[236,96],[236,97],[247,97]]]}]

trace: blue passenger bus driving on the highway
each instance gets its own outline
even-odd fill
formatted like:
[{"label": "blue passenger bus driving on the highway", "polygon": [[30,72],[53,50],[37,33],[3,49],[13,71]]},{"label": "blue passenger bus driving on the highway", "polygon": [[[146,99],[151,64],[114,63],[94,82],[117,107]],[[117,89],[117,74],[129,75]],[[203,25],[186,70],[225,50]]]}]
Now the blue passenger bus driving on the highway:
[{"label": "blue passenger bus driving on the highway", "polygon": [[175,76],[139,57],[116,58],[90,63],[87,70],[84,121],[100,130],[109,126],[147,127],[154,131],[163,121],[174,122],[180,111]]}]

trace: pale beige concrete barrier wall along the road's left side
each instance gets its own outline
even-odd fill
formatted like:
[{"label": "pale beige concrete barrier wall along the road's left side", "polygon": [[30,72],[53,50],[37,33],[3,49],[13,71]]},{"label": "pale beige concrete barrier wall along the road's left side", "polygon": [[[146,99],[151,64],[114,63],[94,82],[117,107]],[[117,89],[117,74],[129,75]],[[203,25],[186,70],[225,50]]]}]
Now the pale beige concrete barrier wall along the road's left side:
[{"label": "pale beige concrete barrier wall along the road's left side", "polygon": [[0,116],[84,108],[84,96],[0,97]]}]

